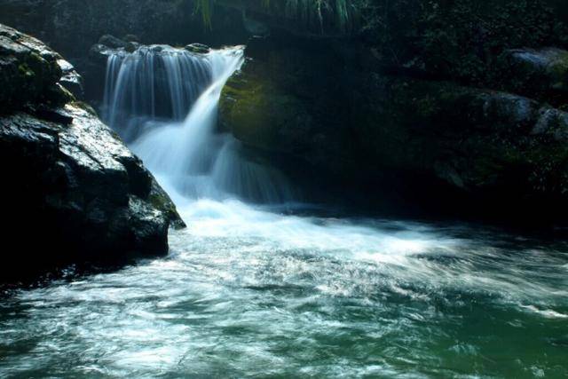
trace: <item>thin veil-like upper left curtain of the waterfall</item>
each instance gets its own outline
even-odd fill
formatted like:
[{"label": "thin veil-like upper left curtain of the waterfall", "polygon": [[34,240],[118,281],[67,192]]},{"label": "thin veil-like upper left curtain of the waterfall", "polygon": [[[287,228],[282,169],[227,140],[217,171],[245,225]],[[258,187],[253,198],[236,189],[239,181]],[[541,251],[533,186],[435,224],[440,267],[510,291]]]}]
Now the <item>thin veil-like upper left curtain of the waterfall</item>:
[{"label": "thin veil-like upper left curtain of the waterfall", "polygon": [[148,122],[181,121],[212,82],[211,60],[170,46],[144,46],[108,58],[103,117],[130,142]]}]

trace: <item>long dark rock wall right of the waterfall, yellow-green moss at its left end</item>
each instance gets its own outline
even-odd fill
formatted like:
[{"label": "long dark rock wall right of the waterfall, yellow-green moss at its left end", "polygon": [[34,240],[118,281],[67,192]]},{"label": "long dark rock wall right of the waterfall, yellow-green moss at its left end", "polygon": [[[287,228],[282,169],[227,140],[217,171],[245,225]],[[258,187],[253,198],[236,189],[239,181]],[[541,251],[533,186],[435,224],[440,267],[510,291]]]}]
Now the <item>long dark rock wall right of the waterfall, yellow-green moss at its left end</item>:
[{"label": "long dark rock wall right of the waterfall, yellow-green moss at its left end", "polygon": [[458,211],[564,217],[567,113],[507,92],[358,70],[364,53],[253,40],[223,91],[221,127],[370,196],[396,186],[404,201],[449,204],[452,193]]}]

